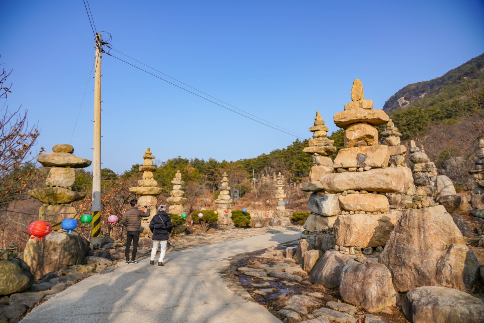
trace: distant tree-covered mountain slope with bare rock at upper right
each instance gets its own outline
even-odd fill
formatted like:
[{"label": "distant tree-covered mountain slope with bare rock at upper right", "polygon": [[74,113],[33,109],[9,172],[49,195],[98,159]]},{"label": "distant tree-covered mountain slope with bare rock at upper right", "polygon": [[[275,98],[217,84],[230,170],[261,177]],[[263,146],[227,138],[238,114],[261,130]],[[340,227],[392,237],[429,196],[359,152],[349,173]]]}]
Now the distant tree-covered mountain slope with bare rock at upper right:
[{"label": "distant tree-covered mountain slope with bare rock at upper right", "polygon": [[[469,91],[472,91],[472,95]],[[408,139],[431,123],[455,122],[476,112],[484,98],[484,54],[430,81],[409,84],[383,106]],[[479,103],[480,102],[480,103]]]}]

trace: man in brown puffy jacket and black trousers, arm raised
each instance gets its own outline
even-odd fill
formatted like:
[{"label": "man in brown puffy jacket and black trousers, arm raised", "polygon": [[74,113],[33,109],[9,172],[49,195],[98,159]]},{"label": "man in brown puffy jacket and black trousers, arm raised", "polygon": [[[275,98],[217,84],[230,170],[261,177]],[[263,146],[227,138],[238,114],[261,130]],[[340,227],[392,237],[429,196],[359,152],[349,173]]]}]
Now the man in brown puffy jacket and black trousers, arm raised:
[{"label": "man in brown puffy jacket and black trousers, arm raised", "polygon": [[[146,212],[140,211],[137,208],[138,200],[133,199],[129,201],[131,209],[126,210],[123,214],[123,225],[126,227],[126,264],[136,264],[136,252],[138,251],[139,230],[141,229],[141,218],[150,216],[150,209],[146,208]],[[131,247],[131,240],[133,240],[133,253],[131,254],[131,261],[129,260],[129,248]]]}]

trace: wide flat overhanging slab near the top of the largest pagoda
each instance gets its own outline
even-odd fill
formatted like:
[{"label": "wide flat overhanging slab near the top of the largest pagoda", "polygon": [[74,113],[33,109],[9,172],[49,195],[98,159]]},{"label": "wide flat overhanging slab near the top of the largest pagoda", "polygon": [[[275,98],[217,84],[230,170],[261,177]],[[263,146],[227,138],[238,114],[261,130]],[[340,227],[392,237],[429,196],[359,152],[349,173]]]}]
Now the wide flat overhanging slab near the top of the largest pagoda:
[{"label": "wide flat overhanging slab near the top of the largest pagoda", "polygon": [[351,109],[337,112],[333,117],[336,126],[343,129],[358,122],[366,122],[373,126],[382,125],[387,123],[389,119],[382,109]]}]

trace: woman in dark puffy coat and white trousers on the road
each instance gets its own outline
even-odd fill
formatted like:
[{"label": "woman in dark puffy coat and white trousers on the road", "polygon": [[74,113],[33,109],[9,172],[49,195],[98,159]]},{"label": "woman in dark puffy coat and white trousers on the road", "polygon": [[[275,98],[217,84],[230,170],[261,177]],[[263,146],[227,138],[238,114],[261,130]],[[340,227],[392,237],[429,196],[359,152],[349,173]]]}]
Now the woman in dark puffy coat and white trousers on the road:
[{"label": "woman in dark puffy coat and white trousers on the road", "polygon": [[160,205],[158,207],[158,212],[151,219],[149,228],[153,233],[151,239],[153,240],[153,249],[151,249],[150,265],[155,264],[155,255],[158,250],[158,245],[160,245],[160,258],[158,259],[158,267],[163,266],[163,258],[166,252],[166,243],[170,237],[169,232],[173,228],[171,224],[171,219],[168,213],[166,213],[166,206]]}]

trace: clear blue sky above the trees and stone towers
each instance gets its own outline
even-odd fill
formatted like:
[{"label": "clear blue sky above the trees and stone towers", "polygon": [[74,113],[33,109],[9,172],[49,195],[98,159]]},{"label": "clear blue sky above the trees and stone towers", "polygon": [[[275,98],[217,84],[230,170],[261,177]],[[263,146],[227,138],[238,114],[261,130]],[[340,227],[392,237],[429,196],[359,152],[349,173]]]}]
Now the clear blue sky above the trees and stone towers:
[{"label": "clear blue sky above the trees and stone towers", "polygon": [[[481,0],[89,4],[114,49],[300,139],[311,136],[316,110],[330,133],[338,129],[333,115],[351,100],[355,78],[381,108],[403,86],[484,52]],[[92,159],[94,41],[82,0],[9,2],[0,27],[0,62],[13,69],[7,104],[38,122],[37,150],[71,142],[76,155]],[[113,57],[103,56],[102,73],[103,168],[123,173],[147,147],[159,160],[221,161],[296,139]]]}]

